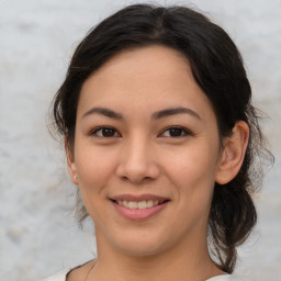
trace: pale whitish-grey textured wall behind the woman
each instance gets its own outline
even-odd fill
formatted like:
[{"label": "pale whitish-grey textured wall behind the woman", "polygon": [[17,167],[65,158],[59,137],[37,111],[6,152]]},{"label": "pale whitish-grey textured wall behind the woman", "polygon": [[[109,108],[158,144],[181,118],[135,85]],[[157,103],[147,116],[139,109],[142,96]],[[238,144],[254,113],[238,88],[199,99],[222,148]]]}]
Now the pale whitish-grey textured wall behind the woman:
[{"label": "pale whitish-grey textured wall behind the woman", "polygon": [[[0,280],[40,280],[94,255],[72,218],[75,187],[46,128],[75,46],[98,21],[137,1],[0,0]],[[165,3],[164,1],[159,1]],[[187,1],[166,1],[188,3]],[[237,272],[281,280],[281,1],[198,0],[239,46],[276,154],[257,198],[259,224]]]}]

